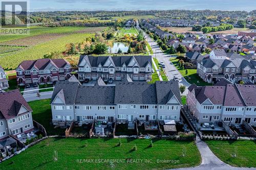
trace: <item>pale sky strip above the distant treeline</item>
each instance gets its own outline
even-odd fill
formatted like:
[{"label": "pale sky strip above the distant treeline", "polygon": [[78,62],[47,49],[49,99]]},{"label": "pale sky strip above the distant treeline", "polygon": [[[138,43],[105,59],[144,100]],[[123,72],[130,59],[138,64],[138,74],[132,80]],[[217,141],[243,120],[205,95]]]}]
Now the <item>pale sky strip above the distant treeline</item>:
[{"label": "pale sky strip above the distant treeline", "polygon": [[256,10],[256,0],[30,0],[30,11]]}]

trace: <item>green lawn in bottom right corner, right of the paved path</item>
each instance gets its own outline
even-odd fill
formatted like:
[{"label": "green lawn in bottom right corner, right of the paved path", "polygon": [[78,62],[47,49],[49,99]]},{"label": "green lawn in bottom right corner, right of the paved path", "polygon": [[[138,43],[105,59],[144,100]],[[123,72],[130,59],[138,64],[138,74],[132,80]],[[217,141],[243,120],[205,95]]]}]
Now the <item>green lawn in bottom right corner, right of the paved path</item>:
[{"label": "green lawn in bottom right corner, right of the paved path", "polygon": [[[232,166],[256,167],[255,141],[206,140],[209,148],[223,162]],[[237,153],[237,157],[232,157]]]}]

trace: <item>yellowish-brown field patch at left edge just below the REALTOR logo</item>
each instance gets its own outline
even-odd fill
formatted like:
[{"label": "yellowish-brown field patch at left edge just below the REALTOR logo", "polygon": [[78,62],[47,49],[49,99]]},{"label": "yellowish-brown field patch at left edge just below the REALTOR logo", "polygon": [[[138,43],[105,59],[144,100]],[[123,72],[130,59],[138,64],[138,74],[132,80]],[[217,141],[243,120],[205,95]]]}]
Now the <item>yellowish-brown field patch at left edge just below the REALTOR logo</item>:
[{"label": "yellowish-brown field patch at left edge just below the REALTOR logo", "polygon": [[0,45],[33,46],[33,45],[51,41],[63,36],[67,36],[67,34],[40,34],[40,35],[31,36],[31,37],[1,42]]}]

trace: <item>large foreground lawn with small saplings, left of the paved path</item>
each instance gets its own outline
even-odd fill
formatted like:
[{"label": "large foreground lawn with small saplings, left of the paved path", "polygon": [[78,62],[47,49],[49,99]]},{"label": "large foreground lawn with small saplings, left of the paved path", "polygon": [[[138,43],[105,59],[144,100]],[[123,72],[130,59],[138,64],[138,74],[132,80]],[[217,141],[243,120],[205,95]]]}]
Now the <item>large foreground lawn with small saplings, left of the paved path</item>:
[{"label": "large foreground lawn with small saplings, left of the paved path", "polygon": [[[104,160],[118,159],[115,169],[167,169],[199,165],[201,157],[194,141],[121,139],[78,139],[48,138],[25,152],[0,164],[1,169],[111,169],[111,163]],[[137,151],[133,151],[134,145]],[[182,156],[183,147],[186,154]],[[58,160],[54,161],[54,151]],[[94,162],[79,163],[78,159],[92,159]],[[95,163],[95,161],[99,163]],[[98,160],[100,159],[100,160]],[[140,162],[134,162],[140,159]],[[173,163],[157,163],[159,160],[174,160]],[[145,162],[148,160],[148,162]],[[129,163],[128,161],[132,162]],[[12,162],[12,163],[11,163]],[[128,163],[127,163],[128,162]]]}]

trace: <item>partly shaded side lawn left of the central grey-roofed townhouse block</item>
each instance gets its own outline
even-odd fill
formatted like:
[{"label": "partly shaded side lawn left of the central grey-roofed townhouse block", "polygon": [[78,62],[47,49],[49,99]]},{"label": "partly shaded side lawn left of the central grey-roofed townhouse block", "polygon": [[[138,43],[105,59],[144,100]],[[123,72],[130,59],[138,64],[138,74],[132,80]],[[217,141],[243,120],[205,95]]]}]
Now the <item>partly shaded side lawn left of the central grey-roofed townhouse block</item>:
[{"label": "partly shaded side lawn left of the central grey-roofed townhouse block", "polygon": [[52,122],[52,110],[50,106],[50,99],[33,101],[28,104],[32,108],[33,119],[45,127],[48,135],[65,135],[66,129],[54,129]]}]

